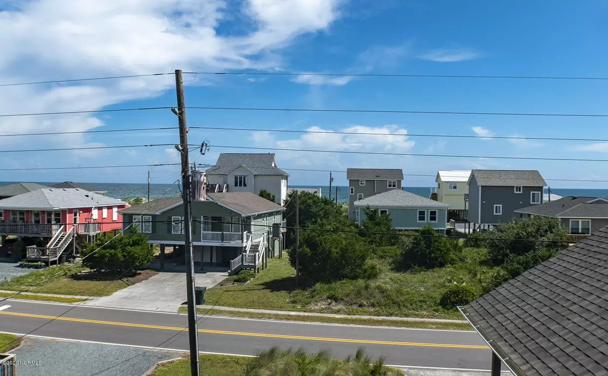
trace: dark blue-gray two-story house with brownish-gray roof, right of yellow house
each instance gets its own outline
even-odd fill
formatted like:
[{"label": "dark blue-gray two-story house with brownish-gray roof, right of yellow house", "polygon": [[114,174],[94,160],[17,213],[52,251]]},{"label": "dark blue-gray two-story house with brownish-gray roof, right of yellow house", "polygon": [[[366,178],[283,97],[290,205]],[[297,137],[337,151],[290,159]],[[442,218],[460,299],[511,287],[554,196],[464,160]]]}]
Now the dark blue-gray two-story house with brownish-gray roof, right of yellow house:
[{"label": "dark blue-gray two-story house with brownish-gray roof, right of yellow house", "polygon": [[496,225],[519,217],[517,209],[541,204],[547,183],[536,170],[474,169],[468,185],[469,222]]}]

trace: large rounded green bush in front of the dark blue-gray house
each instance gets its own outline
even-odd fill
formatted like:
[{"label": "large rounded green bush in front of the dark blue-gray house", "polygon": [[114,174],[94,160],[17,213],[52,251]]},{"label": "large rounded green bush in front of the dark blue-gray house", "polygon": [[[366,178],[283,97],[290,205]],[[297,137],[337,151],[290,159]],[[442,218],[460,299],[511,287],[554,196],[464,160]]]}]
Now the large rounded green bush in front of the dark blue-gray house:
[{"label": "large rounded green bush in front of the dark blue-gray house", "polygon": [[545,248],[556,251],[559,242],[539,242],[537,240],[565,241],[567,229],[558,218],[527,217],[505,222],[485,233],[488,256],[495,265],[501,265],[513,256],[522,256]]}]

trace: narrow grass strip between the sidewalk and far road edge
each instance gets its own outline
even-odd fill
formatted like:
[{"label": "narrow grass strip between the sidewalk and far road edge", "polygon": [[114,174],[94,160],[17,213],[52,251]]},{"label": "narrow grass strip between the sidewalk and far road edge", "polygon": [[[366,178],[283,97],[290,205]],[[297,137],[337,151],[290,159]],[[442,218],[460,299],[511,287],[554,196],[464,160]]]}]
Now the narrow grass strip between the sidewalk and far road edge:
[{"label": "narrow grass strip between the sidewalk and far road edge", "polygon": [[[187,307],[179,307],[179,312],[187,312]],[[356,317],[326,317],[326,316],[306,316],[306,315],[277,315],[274,313],[258,312],[239,312],[225,311],[219,309],[197,308],[199,315],[231,316],[264,318],[271,320],[303,321],[305,323],[330,323],[330,324],[349,324],[349,325],[368,325],[368,326],[395,326],[395,327],[414,327],[423,329],[457,329],[472,330],[466,323],[441,323],[435,321],[406,321],[406,320],[386,320],[378,318],[356,318]]]}]

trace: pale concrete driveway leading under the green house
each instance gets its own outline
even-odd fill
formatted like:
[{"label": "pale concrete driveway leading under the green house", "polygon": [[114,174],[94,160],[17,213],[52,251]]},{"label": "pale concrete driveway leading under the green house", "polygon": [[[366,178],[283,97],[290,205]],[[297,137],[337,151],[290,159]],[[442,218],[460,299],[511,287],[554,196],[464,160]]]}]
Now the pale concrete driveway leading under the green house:
[{"label": "pale concrete driveway leading under the green house", "polygon": [[[226,268],[205,267],[204,272],[195,273],[195,283],[209,289],[227,276]],[[83,305],[177,312],[186,300],[185,272],[161,272],[110,296],[102,296]]]}]

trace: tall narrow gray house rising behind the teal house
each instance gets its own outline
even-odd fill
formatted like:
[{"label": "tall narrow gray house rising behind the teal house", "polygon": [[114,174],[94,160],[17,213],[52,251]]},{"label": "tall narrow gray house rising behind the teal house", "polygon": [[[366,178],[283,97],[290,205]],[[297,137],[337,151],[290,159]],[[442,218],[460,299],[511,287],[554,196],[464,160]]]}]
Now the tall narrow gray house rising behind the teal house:
[{"label": "tall narrow gray house rising behind the teal house", "polygon": [[354,202],[389,190],[401,190],[400,168],[347,168],[348,218],[357,220]]}]

